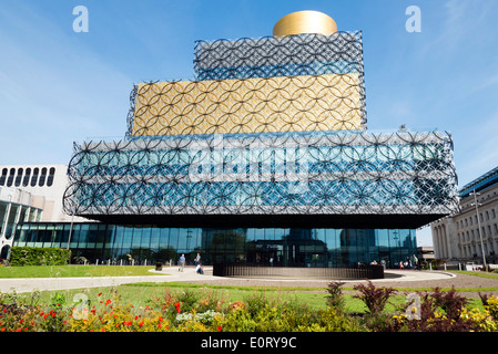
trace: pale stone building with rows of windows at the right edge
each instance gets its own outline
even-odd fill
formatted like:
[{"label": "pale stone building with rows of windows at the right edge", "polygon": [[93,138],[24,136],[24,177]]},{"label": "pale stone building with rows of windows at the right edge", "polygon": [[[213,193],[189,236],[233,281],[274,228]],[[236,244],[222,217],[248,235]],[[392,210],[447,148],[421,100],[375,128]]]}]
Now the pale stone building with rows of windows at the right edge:
[{"label": "pale stone building with rows of windows at the right edge", "polygon": [[498,167],[465,185],[459,198],[459,212],[430,226],[436,258],[482,263],[485,254],[487,263],[496,263]]}]

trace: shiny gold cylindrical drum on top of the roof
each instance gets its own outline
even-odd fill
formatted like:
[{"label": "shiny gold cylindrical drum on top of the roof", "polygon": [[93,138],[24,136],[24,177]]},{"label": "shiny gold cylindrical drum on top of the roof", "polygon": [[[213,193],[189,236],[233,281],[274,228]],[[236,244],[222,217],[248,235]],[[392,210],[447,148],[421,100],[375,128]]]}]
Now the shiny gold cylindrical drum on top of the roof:
[{"label": "shiny gold cylindrical drum on top of the roof", "polygon": [[297,11],[284,15],[273,27],[274,37],[317,33],[331,35],[337,32],[337,24],[327,14],[318,11]]}]

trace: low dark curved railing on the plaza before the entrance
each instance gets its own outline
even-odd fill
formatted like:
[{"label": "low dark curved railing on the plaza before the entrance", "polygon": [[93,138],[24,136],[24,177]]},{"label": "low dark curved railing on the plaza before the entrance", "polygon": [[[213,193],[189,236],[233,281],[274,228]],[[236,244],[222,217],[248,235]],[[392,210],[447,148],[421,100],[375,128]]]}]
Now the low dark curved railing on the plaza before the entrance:
[{"label": "low dark curved railing on the plaza before the entrance", "polygon": [[384,279],[382,266],[359,268],[295,268],[257,267],[220,263],[213,266],[213,275],[234,278],[299,278],[299,279]]}]

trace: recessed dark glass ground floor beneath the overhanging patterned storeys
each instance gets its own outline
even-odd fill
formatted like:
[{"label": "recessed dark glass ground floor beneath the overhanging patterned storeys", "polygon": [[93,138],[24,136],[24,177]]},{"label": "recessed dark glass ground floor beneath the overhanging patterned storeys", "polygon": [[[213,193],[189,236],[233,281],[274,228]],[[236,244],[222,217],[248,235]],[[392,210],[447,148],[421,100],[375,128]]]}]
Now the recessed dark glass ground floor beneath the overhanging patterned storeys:
[{"label": "recessed dark glass ground floor beneath the overhanging patterned storeys", "polygon": [[18,225],[13,246],[69,248],[72,260],[121,264],[245,263],[274,267],[355,267],[372,262],[397,268],[417,252],[413,229],[167,228],[153,225]]}]

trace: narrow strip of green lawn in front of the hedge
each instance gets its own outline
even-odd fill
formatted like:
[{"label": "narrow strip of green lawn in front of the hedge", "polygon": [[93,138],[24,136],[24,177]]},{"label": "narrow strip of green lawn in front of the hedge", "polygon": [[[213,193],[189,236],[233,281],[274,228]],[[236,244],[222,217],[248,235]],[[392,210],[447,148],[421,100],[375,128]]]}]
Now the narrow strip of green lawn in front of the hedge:
[{"label": "narrow strip of green lawn in front of the hedge", "polygon": [[[157,275],[141,266],[26,266],[0,267],[1,278],[131,277]],[[165,275],[165,274],[164,274]]]}]

